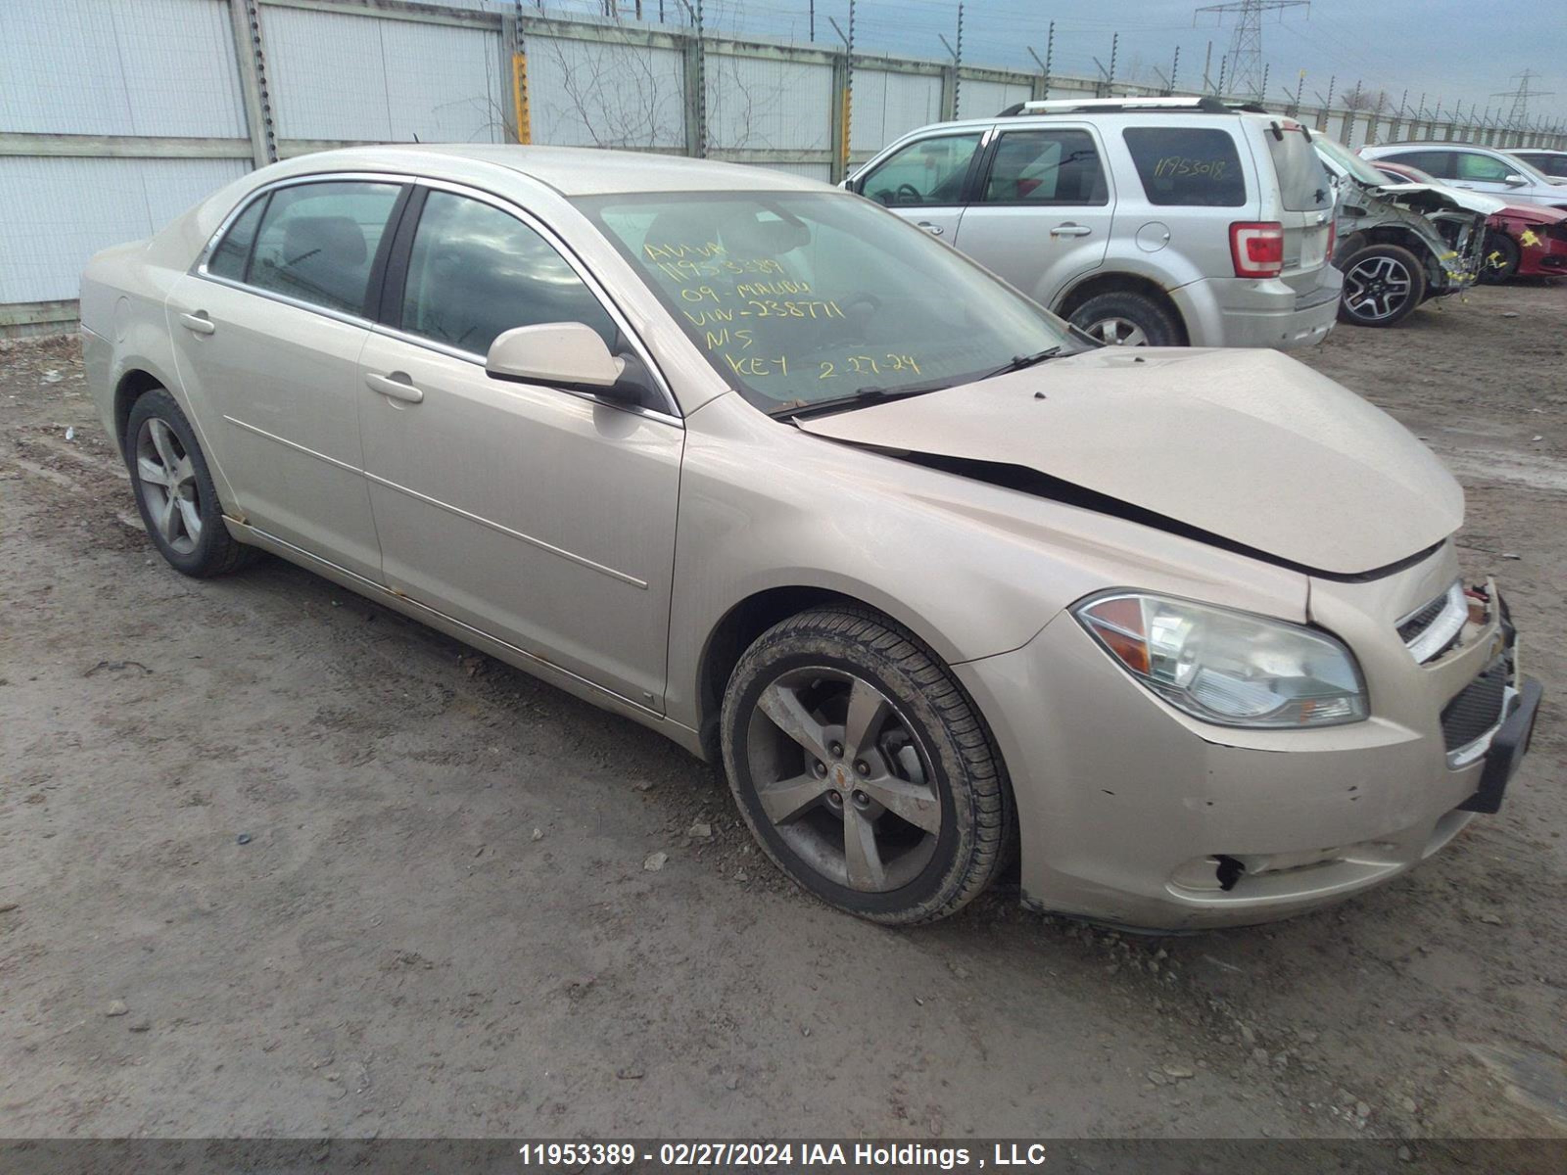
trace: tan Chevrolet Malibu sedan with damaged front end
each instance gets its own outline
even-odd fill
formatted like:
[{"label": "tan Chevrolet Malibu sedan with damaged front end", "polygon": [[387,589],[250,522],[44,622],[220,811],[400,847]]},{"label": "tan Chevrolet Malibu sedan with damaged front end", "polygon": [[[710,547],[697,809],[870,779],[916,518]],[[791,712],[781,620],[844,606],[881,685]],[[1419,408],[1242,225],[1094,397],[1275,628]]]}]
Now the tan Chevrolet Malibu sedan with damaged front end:
[{"label": "tan Chevrolet Malibu sedan with damaged front end", "polygon": [[1095,349],[821,183],[309,155],[94,257],[81,324],[177,570],[271,551],[721,760],[874,921],[1009,868],[1109,923],[1282,918],[1528,746],[1399,425],[1274,351]]}]

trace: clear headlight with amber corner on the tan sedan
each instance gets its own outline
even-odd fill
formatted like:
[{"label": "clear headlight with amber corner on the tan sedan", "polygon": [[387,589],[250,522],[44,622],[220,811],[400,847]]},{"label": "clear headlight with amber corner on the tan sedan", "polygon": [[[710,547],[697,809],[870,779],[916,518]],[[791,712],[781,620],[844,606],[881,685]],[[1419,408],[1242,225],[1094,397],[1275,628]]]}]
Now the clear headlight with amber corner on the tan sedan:
[{"label": "clear headlight with amber corner on the tan sedan", "polygon": [[1313,628],[1141,592],[1091,597],[1072,614],[1138,682],[1203,722],[1326,727],[1370,713],[1354,655]]}]

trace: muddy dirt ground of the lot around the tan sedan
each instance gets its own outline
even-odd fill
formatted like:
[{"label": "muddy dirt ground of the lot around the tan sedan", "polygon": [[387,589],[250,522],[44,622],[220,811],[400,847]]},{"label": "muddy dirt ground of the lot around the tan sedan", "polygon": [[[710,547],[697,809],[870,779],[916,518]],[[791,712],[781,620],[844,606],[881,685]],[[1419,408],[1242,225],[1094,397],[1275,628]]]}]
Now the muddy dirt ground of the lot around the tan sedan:
[{"label": "muddy dirt ground of the lot around the tan sedan", "polygon": [[1547,689],[1501,815],[1139,938],[854,921],[657,735],[280,561],[182,578],[75,342],[0,345],[0,1134],[1567,1137],[1564,346],[1525,285],[1305,356],[1468,489]]}]

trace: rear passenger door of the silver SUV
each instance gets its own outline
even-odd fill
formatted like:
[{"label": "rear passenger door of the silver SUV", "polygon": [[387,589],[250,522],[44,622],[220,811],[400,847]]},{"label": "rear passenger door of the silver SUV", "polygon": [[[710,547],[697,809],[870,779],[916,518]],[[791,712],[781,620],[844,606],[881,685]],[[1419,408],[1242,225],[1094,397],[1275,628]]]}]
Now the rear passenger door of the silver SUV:
[{"label": "rear passenger door of the silver SUV", "polygon": [[1097,269],[1114,219],[1097,132],[1003,130],[957,229],[957,248],[1042,306]]}]

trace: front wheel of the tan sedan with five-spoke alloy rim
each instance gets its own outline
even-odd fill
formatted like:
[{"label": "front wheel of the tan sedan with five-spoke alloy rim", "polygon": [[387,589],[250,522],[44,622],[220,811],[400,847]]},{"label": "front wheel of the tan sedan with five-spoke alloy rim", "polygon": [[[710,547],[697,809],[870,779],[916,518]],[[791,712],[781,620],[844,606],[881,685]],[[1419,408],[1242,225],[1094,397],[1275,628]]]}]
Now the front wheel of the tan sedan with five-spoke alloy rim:
[{"label": "front wheel of the tan sedan with five-spoke alloy rim", "polygon": [[757,840],[840,909],[931,921],[1000,866],[1011,801],[990,739],[946,667],[873,613],[802,613],[763,633],[722,730]]}]

